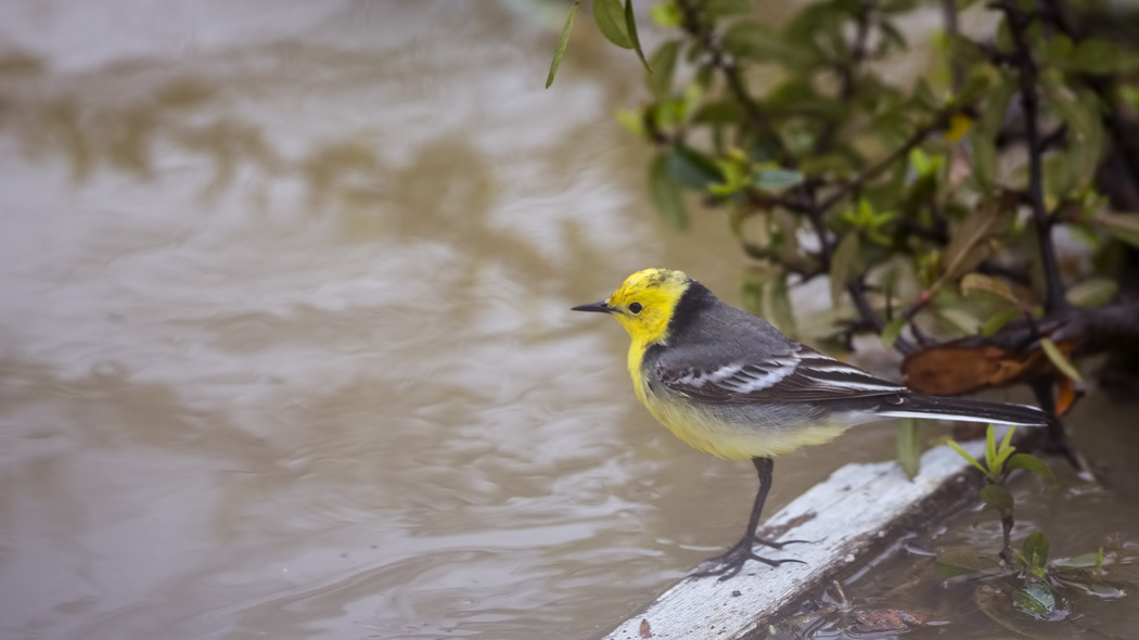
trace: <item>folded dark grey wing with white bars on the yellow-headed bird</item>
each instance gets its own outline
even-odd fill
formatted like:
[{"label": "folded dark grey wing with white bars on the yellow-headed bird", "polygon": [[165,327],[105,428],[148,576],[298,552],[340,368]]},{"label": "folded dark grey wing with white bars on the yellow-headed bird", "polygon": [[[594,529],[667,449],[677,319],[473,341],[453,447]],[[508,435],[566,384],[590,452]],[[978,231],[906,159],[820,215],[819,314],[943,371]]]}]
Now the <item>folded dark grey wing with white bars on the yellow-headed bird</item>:
[{"label": "folded dark grey wing with white bars on the yellow-headed bird", "polygon": [[789,340],[787,347],[763,355],[753,351],[721,356],[716,360],[723,364],[715,368],[694,366],[694,358],[674,351],[663,353],[652,366],[673,392],[707,402],[826,402],[909,391],[810,347]]}]

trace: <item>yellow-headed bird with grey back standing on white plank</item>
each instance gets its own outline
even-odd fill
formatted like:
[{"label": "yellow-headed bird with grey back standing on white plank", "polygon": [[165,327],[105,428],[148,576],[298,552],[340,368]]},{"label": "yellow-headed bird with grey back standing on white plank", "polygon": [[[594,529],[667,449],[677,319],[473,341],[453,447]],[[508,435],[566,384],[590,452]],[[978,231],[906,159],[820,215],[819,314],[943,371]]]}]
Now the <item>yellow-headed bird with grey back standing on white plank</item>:
[{"label": "yellow-headed bird with grey back standing on white plank", "polygon": [[699,451],[755,467],[760,487],[744,536],[705,560],[711,568],[696,577],[728,580],[748,560],[771,567],[800,561],[754,549],[804,542],[756,534],[777,456],[890,418],[1014,426],[1050,420],[1035,407],[911,392],[788,338],[682,271],[637,271],[608,298],[572,311],[606,313],[625,328],[633,391],[657,421]]}]

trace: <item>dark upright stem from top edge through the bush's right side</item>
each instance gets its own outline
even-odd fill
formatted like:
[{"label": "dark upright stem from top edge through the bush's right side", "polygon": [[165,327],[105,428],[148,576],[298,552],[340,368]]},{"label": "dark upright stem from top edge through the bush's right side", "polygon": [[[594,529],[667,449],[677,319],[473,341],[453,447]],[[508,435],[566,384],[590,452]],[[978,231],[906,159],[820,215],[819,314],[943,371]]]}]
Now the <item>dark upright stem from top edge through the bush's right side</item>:
[{"label": "dark upright stem from top edge through the bush's right side", "polygon": [[1024,105],[1024,126],[1029,142],[1029,204],[1032,208],[1032,222],[1036,230],[1036,244],[1040,248],[1040,260],[1043,263],[1047,295],[1046,312],[1055,312],[1067,303],[1064,300],[1064,285],[1060,282],[1059,265],[1056,261],[1056,247],[1052,244],[1052,221],[1044,205],[1043,154],[1044,143],[1040,134],[1040,98],[1036,95],[1036,63],[1025,36],[1033,17],[1022,13],[1015,0],[1003,0],[1000,8],[1005,11],[1013,46],[1016,49],[1015,64],[1021,81],[1021,101]]}]

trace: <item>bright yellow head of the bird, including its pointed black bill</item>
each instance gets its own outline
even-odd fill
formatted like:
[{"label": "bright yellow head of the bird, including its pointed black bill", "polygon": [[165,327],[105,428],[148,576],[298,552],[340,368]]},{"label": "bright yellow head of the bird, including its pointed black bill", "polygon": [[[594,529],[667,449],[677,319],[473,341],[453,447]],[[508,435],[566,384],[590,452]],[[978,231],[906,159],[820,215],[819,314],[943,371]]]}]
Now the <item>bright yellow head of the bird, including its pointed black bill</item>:
[{"label": "bright yellow head of the bird, including its pointed black bill", "polygon": [[573,311],[609,313],[629,331],[633,344],[656,344],[669,338],[669,320],[691,279],[683,271],[645,269],[625,278],[604,302],[583,304]]}]

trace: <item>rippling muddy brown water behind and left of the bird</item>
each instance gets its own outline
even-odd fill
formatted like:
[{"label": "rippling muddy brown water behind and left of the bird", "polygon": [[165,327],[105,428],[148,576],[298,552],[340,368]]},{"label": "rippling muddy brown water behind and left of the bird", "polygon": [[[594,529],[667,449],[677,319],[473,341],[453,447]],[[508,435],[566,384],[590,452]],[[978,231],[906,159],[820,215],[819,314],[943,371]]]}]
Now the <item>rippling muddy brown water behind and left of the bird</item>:
[{"label": "rippling muddy brown water behind and left of the bird", "polygon": [[597,637],[738,538],[568,312],[740,257],[656,221],[634,57],[542,88],[565,9],[0,6],[0,637]]}]

